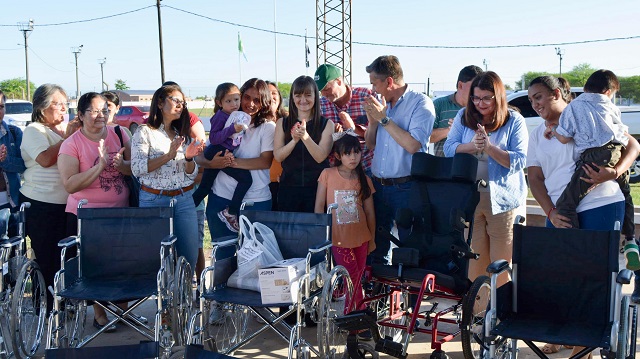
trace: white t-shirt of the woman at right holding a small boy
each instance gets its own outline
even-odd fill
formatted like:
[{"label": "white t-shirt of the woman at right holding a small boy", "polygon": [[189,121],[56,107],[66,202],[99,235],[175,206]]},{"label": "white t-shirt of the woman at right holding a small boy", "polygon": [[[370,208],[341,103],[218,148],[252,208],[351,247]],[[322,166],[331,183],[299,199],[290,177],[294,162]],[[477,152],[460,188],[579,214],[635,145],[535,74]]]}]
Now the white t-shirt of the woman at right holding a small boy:
[{"label": "white t-shirt of the woman at right holding a small boy", "polygon": [[[527,167],[540,167],[544,184],[553,203],[556,203],[575,172],[579,154],[574,151],[573,141],[563,145],[556,138],[544,138],[545,124],[536,127],[529,135]],[[624,201],[620,186],[613,180],[601,183],[587,194],[576,212],[602,207]]]}]

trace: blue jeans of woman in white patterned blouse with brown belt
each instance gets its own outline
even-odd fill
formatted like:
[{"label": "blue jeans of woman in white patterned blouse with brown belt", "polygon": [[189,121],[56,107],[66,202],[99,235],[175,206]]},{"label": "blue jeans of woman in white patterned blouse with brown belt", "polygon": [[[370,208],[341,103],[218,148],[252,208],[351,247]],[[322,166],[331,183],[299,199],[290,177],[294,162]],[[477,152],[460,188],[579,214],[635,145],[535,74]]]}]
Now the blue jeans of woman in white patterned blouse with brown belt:
[{"label": "blue jeans of woman in white patterned blouse with brown belt", "polygon": [[140,207],[169,207],[171,199],[177,202],[173,207],[173,232],[178,237],[176,251],[184,256],[192,269],[198,260],[198,219],[193,204],[193,190],[175,197],[140,191]]}]

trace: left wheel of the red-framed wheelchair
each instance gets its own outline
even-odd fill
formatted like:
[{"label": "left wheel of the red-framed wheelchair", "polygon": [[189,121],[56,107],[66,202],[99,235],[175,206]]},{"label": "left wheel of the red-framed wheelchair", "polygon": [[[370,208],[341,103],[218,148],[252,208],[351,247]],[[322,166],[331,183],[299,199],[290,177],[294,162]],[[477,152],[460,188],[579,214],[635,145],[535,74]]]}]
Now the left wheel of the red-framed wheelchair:
[{"label": "left wheel of the red-framed wheelchair", "polygon": [[[393,291],[389,293],[389,287],[376,283],[373,287],[372,295],[386,294],[384,297],[374,300],[370,303],[369,308],[376,313],[378,321],[395,318],[388,320],[387,323],[407,326],[409,318],[406,315],[399,316],[401,312],[405,312],[409,308],[409,296],[407,293],[401,291]],[[398,316],[396,318],[396,316]],[[405,330],[399,328],[392,328],[384,325],[380,325],[380,335],[384,338],[386,336],[391,337],[394,342],[402,343],[404,335],[407,334]]]}]

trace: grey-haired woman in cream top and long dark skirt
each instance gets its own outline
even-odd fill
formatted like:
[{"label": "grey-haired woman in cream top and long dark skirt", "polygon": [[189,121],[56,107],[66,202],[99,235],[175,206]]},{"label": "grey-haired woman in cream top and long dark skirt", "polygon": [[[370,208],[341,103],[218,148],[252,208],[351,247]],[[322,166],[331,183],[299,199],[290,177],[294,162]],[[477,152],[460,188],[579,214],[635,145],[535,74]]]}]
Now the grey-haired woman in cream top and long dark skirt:
[{"label": "grey-haired woman in cream top and long dark skirt", "polygon": [[[33,94],[32,123],[25,128],[20,145],[27,167],[20,202],[31,202],[26,212],[26,234],[47,287],[53,286],[53,277],[60,269],[58,241],[68,233],[65,213],[68,194],[58,172],[58,152],[62,141],[80,123],[74,120],[65,126],[66,112],[67,94],[62,87],[53,84],[38,87]],[[51,309],[53,298],[47,293],[47,308]]]}]

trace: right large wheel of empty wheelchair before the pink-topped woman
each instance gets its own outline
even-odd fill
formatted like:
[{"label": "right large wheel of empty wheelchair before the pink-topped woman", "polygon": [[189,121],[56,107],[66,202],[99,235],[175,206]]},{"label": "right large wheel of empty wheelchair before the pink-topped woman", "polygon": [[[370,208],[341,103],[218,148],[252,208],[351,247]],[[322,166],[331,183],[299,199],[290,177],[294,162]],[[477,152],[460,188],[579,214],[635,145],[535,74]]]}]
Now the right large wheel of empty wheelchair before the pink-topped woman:
[{"label": "right large wheel of empty wheelchair before the pink-topped woman", "polygon": [[172,290],[171,334],[175,345],[187,345],[187,321],[191,315],[193,290],[191,266],[184,257],[178,258]]}]

